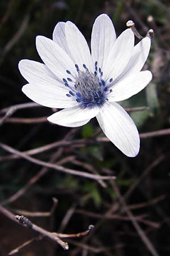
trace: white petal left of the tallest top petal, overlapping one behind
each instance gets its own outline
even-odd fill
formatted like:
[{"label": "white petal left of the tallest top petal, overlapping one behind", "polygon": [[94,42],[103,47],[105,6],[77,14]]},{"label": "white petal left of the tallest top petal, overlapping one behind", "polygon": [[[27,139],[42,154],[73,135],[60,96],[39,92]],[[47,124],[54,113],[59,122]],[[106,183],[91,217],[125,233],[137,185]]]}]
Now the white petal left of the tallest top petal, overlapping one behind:
[{"label": "white petal left of the tallest top petal, overlapping one behind", "polygon": [[86,39],[74,23],[68,21],[65,24],[65,34],[70,54],[74,63],[84,71],[83,64],[92,71],[92,59]]}]

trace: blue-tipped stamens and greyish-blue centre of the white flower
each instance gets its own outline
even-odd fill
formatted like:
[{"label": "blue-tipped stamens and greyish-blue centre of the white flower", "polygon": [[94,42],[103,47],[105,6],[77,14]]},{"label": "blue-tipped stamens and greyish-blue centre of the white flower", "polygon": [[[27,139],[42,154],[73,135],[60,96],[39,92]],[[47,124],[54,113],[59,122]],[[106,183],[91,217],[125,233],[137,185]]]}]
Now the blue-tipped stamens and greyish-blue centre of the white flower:
[{"label": "blue-tipped stamens and greyish-blue centre of the white flower", "polygon": [[74,77],[69,70],[66,70],[66,73],[74,79],[70,77],[63,78],[65,86],[70,89],[66,96],[74,97],[77,102],[85,106],[100,105],[104,101],[108,101],[107,95],[112,92],[112,89],[109,90],[109,84],[113,79],[109,79],[109,84],[106,85],[106,82],[102,79],[103,72],[100,67],[97,67],[97,61],[95,61],[94,73],[89,71],[86,64],[83,64],[84,71],[80,71],[77,64],[75,64],[75,68],[78,76]]}]

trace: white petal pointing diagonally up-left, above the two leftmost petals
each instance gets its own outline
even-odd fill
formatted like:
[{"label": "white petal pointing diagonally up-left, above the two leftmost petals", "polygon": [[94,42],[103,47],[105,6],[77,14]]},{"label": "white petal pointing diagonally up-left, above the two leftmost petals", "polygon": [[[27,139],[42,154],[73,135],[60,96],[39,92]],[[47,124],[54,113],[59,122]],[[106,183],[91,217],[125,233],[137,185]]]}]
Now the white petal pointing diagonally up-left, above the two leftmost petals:
[{"label": "white petal pointing diagonally up-left, above the two leftmost petals", "polygon": [[66,70],[69,70],[75,76],[75,66],[69,55],[58,46],[53,40],[45,36],[36,37],[36,48],[45,65],[59,79],[68,76]]}]

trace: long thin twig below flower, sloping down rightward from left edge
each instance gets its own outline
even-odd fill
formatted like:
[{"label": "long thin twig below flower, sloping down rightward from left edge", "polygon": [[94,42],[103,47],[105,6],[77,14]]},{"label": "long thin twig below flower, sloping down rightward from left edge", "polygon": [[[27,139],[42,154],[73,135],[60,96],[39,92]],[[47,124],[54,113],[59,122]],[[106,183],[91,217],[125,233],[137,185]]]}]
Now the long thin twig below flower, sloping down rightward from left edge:
[{"label": "long thin twig below flower, sloping down rightward from left edge", "polygon": [[77,171],[77,170],[65,168],[63,166],[59,166],[58,164],[46,163],[42,160],[32,158],[31,156],[25,155],[24,153],[22,153],[18,150],[15,150],[14,148],[7,146],[6,144],[3,144],[3,143],[0,143],[0,147],[12,154],[21,156],[22,158],[28,160],[29,162],[35,163],[39,166],[45,166],[48,168],[52,168],[54,170],[61,171],[61,172],[67,173],[67,174],[73,174],[76,176],[86,177],[88,179],[93,179],[93,180],[115,179],[115,176],[100,176],[100,175],[95,175],[95,174],[88,174],[88,172]]}]

